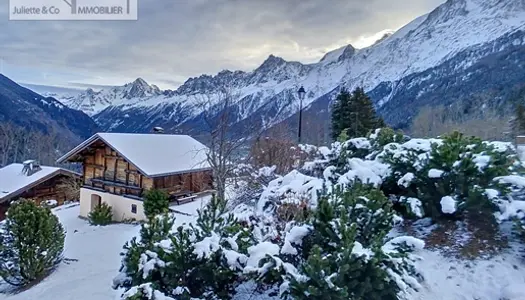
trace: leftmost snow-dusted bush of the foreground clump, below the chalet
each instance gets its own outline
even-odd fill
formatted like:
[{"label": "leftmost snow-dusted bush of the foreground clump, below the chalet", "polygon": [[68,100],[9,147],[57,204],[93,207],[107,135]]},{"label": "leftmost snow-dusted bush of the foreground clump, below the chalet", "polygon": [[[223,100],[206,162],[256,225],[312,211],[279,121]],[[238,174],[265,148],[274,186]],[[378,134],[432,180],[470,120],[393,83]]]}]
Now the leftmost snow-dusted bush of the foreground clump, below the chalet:
[{"label": "leftmost snow-dusted bush of the foreground clump, below the chalet", "polygon": [[250,233],[232,215],[221,215],[220,204],[214,199],[195,226],[173,230],[174,219],[167,215],[144,224],[141,239],[124,246],[113,282],[124,289],[122,299],[230,299]]}]

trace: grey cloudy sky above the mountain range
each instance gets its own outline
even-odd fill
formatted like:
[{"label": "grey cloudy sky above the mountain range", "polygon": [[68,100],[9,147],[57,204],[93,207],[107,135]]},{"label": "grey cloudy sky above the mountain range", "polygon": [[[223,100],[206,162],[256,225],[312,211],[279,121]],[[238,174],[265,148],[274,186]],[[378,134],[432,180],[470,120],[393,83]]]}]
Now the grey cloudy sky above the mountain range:
[{"label": "grey cloudy sky above the mountain range", "polygon": [[310,63],[348,43],[366,47],[444,0],[139,0],[138,21],[104,22],[8,21],[1,2],[0,72],[15,81],[142,77],[175,88],[203,73],[252,70],[269,54]]}]

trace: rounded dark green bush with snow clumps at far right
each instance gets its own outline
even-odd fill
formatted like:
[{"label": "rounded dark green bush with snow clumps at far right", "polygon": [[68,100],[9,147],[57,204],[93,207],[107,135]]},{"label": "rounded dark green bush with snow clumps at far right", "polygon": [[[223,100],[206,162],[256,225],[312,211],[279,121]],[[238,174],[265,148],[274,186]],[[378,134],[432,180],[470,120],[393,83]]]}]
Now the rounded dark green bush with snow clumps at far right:
[{"label": "rounded dark green bush with snow clumps at far right", "polygon": [[438,219],[493,212],[497,207],[485,190],[505,194],[505,186],[494,178],[514,171],[517,159],[510,147],[454,132],[440,140],[387,145],[381,160],[392,170],[383,191],[395,195],[414,215]]}]

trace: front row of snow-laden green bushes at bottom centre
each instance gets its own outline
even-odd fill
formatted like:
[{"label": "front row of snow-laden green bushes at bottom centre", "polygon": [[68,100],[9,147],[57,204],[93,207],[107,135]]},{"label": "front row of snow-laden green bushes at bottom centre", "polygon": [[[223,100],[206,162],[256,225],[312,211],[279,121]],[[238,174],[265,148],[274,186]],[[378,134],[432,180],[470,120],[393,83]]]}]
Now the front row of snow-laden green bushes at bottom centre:
[{"label": "front row of snow-laden green bushes at bottom centre", "polygon": [[[330,290],[326,295],[334,297],[341,289],[345,299],[397,299],[418,287],[410,249],[399,239],[386,239],[394,214],[381,191],[341,186],[320,197],[317,209],[301,223],[274,222],[268,211],[257,214],[245,205],[222,214],[215,201],[199,212],[194,225],[175,231],[173,219],[157,217],[143,225],[140,241],[125,246],[114,288],[124,289],[122,299],[155,294],[159,299],[230,299],[248,283],[256,287],[251,294],[273,290],[286,299],[304,298],[306,286]],[[329,265],[317,274],[312,270],[320,268],[319,255]],[[316,279],[329,271],[337,274]]]}]

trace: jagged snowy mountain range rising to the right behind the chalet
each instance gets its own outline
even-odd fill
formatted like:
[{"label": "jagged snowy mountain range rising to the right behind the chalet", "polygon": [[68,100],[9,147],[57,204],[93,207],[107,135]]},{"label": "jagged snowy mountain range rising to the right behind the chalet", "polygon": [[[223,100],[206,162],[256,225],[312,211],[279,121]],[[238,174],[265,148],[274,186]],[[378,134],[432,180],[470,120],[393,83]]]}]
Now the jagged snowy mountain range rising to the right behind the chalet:
[{"label": "jagged snowy mountain range rising to the right behind the chalet", "polygon": [[[315,64],[270,55],[252,72],[202,75],[188,79],[175,91],[160,91],[137,79],[123,87],[88,90],[64,104],[92,115],[106,130],[194,128],[202,111],[199,101],[217,98],[228,87],[238,96],[237,126],[256,122],[269,127],[294,117],[299,109],[295,91],[301,85],[307,90],[304,105],[315,106],[316,112],[326,112],[341,87],[363,86],[387,122],[396,126],[428,104],[430,94],[446,103],[470,97],[472,88],[484,92],[509,84],[525,85],[520,75],[525,71],[523,57],[525,0],[449,0],[368,48],[347,45]],[[503,65],[507,68],[504,77],[480,71],[485,67],[502,71]],[[464,84],[469,84],[467,89],[462,88]],[[435,87],[439,93],[434,92]],[[454,99],[450,89],[460,91]]]}]

